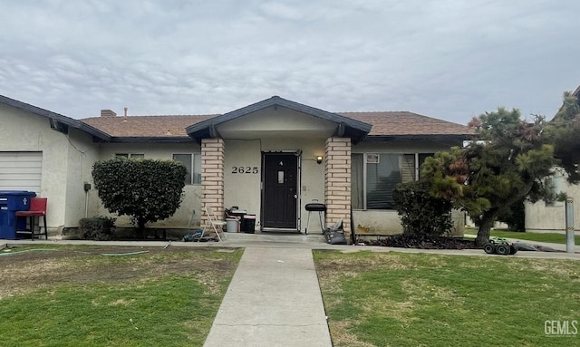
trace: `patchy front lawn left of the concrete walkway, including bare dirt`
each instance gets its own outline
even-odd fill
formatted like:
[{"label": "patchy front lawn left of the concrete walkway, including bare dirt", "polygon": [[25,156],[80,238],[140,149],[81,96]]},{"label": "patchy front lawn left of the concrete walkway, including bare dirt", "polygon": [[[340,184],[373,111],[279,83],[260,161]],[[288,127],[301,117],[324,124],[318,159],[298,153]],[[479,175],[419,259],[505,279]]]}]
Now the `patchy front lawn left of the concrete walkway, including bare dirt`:
[{"label": "patchy front lawn left of the concrete walkway, including bare dirt", "polygon": [[0,345],[201,346],[242,255],[55,249],[0,256]]}]

